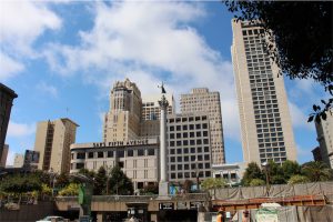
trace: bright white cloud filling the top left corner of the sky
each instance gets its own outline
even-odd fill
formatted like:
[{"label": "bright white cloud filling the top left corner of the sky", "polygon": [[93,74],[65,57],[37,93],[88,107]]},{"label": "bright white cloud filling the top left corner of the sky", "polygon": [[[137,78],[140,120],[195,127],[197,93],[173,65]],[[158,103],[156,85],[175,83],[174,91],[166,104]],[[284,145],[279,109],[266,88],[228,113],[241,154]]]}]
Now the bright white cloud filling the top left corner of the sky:
[{"label": "bright white cloud filling the top left corner of the sky", "polygon": [[59,29],[60,18],[46,2],[0,1],[0,43],[6,49],[31,53],[31,43],[47,29]]}]

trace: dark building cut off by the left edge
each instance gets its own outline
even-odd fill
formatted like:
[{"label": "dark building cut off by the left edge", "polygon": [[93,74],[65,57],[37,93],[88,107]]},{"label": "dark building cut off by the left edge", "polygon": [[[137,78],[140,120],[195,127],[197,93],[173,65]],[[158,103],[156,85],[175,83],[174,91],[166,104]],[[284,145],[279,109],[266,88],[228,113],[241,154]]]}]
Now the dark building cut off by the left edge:
[{"label": "dark building cut off by the left edge", "polygon": [[17,97],[18,95],[13,90],[0,83],[0,160],[4,148],[12,101]]}]

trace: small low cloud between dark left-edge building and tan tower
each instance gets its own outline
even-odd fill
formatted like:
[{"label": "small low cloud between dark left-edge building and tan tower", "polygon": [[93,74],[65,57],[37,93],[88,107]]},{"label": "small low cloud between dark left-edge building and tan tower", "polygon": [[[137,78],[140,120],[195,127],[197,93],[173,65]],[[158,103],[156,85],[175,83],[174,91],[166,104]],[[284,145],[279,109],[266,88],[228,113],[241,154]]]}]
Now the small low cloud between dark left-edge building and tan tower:
[{"label": "small low cloud between dark left-edge building and tan tower", "polygon": [[8,124],[7,137],[23,138],[33,134],[34,131],[36,131],[34,123],[27,124],[27,123],[17,123],[10,121]]}]

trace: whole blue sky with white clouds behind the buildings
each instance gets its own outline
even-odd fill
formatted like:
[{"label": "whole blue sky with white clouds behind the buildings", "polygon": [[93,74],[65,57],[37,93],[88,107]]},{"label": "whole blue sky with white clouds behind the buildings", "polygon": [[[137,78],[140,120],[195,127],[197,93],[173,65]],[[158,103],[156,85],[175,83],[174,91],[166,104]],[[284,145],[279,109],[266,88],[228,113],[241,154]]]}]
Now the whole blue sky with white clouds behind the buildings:
[{"label": "whole blue sky with white clouds behind the buildings", "polygon": [[[219,91],[226,161],[241,162],[231,18],[206,1],[0,1],[0,81],[19,95],[7,163],[33,148],[38,121],[67,117],[80,124],[77,142],[101,141],[110,88],[124,78],[143,95],[159,93],[161,81],[176,99],[198,87]],[[317,145],[306,115],[326,95],[310,80],[285,87],[302,163]]]}]

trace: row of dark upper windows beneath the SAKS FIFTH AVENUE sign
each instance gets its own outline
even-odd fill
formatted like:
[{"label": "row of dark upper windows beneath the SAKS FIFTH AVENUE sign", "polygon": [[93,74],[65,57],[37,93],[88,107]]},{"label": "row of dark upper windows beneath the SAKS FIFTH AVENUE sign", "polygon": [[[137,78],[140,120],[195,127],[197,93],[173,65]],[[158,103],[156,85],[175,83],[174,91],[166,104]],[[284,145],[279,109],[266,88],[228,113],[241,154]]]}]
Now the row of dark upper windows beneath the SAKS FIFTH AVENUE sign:
[{"label": "row of dark upper windows beneath the SAKS FIFTH AVENUE sign", "polygon": [[[114,153],[117,152],[117,153]],[[77,153],[77,159],[83,160],[83,159],[94,159],[94,158],[114,158],[117,154],[118,158],[124,158],[124,155],[127,157],[144,157],[144,155],[154,155],[155,154],[155,150],[154,149],[148,149],[148,150],[143,150],[143,149],[139,149],[139,150],[118,150],[118,151],[100,151],[100,152],[88,152],[85,154],[85,152],[78,152]],[[73,159],[73,153],[72,153],[72,159]]]}]

